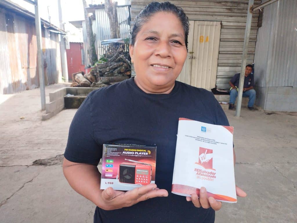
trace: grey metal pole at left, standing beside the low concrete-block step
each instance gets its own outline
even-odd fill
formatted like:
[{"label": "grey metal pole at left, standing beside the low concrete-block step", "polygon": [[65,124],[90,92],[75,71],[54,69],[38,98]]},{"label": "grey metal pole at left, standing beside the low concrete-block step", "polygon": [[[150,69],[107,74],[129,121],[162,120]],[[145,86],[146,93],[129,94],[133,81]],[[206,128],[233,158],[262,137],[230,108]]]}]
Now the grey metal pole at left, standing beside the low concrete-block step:
[{"label": "grey metal pole at left, standing beside the low concrete-block step", "polygon": [[38,12],[38,0],[35,0],[35,29],[37,39],[37,64],[39,74],[39,85],[40,85],[40,98],[41,98],[41,110],[45,110],[45,86],[44,86],[44,75],[43,75],[43,63],[42,63],[42,41],[41,41],[41,21]]}]

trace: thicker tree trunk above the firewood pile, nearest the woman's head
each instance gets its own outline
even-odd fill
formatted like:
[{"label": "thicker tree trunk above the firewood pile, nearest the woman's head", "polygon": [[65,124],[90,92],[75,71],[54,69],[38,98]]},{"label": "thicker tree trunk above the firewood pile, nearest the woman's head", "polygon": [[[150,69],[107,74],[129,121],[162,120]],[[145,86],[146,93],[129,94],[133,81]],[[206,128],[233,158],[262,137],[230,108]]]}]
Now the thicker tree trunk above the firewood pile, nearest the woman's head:
[{"label": "thicker tree trunk above the firewood pile, nearest the woman's head", "polygon": [[[85,1],[85,0],[83,0]],[[120,38],[119,22],[118,22],[118,13],[116,11],[116,6],[118,5],[117,1],[105,0],[104,7],[105,12],[109,18],[110,24],[110,38],[117,39]]]}]

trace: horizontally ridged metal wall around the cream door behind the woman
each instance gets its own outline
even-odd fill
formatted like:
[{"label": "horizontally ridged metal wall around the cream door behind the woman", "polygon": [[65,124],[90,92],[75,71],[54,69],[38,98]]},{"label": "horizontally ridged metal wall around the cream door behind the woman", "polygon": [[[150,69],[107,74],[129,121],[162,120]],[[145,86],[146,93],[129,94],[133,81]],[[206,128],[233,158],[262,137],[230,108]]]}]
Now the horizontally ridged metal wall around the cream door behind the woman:
[{"label": "horizontally ridged metal wall around the cream door behind the woman", "polygon": [[[150,0],[132,0],[131,19],[142,10]],[[162,2],[162,1],[161,1]],[[217,88],[228,88],[229,80],[240,72],[247,19],[248,0],[172,0],[171,3],[183,8],[189,20],[221,21],[222,29],[217,67]],[[255,1],[260,4],[261,1]],[[252,63],[255,54],[258,12],[253,13],[247,63]]]}]

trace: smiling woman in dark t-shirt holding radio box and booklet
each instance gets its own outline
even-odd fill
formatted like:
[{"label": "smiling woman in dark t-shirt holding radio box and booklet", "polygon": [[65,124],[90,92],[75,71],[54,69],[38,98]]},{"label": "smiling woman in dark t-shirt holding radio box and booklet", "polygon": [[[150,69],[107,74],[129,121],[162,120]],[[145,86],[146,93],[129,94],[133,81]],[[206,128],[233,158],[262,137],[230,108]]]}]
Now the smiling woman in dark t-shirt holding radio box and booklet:
[{"label": "smiling woman in dark t-shirt holding radio box and booklet", "polygon": [[[94,222],[214,222],[214,210],[221,208],[205,188],[200,198],[168,193],[178,118],[229,125],[211,92],[176,81],[187,57],[188,32],[181,8],[150,3],[135,18],[131,32],[136,77],[91,92],[73,118],[63,171],[72,188],[97,205]],[[107,142],[156,144],[158,188],[100,190],[97,165]]]}]

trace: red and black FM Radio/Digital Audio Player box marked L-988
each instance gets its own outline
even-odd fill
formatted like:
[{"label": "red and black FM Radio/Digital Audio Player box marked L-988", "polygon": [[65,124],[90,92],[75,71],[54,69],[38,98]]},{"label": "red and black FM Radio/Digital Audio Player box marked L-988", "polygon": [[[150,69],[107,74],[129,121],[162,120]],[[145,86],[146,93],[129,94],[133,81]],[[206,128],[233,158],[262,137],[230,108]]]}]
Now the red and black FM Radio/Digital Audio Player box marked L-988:
[{"label": "red and black FM Radio/Digital Audio Player box marked L-988", "polygon": [[156,145],[104,144],[100,189],[129,191],[155,183]]}]

